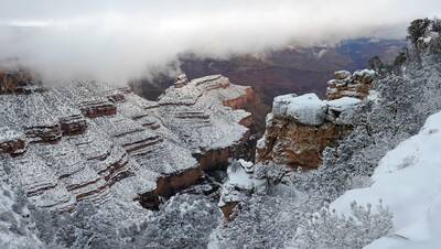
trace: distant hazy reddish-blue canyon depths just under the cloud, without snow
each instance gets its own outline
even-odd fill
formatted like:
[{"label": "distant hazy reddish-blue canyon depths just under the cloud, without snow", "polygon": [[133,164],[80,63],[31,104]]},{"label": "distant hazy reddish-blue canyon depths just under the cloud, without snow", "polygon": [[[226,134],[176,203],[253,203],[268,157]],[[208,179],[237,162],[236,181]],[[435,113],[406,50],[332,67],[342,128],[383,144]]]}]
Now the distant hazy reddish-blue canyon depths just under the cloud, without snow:
[{"label": "distant hazy reddish-blue canyon depths just under the cloud, without snow", "polygon": [[[189,78],[222,74],[234,83],[249,85],[262,104],[270,107],[276,96],[287,93],[314,93],[324,97],[326,87],[323,83],[334,72],[367,68],[374,56],[386,64],[392,63],[405,46],[404,40],[356,39],[343,41],[335,46],[287,45],[255,54],[233,54],[226,58],[186,53],[180,56],[174,67],[178,72],[184,72]],[[155,99],[174,80],[174,76],[168,74],[158,73],[153,76],[131,83],[135,91],[147,99]],[[265,121],[265,117],[261,121]]]}]

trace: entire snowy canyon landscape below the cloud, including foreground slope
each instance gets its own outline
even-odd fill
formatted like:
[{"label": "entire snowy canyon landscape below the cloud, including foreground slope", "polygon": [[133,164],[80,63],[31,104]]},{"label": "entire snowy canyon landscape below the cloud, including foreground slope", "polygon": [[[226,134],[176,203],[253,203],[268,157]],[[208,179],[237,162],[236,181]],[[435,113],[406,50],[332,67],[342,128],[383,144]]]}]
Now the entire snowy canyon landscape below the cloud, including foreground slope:
[{"label": "entire snowy canyon landscape below the cloud, including foreground slope", "polygon": [[408,32],[181,54],[150,96],[0,71],[0,247],[435,248],[441,21]]}]

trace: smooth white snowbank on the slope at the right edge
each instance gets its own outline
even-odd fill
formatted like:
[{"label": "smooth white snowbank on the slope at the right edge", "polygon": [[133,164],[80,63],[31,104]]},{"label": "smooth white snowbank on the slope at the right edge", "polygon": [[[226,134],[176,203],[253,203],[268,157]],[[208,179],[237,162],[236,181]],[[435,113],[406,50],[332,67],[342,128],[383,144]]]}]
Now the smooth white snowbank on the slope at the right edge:
[{"label": "smooth white snowbank on the slope at the right edge", "polygon": [[349,204],[377,204],[394,214],[395,235],[366,248],[439,248],[441,246],[441,112],[417,136],[401,142],[379,162],[370,187],[346,192],[332,203],[349,214]]}]

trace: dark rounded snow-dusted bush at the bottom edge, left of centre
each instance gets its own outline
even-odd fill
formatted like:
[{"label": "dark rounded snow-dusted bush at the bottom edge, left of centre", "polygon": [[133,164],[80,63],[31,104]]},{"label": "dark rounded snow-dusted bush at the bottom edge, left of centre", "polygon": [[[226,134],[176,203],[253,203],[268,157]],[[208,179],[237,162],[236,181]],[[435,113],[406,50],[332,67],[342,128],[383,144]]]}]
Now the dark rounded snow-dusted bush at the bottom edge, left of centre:
[{"label": "dark rounded snow-dusted bush at the bottom edge, left of centre", "polygon": [[122,236],[129,238],[132,248],[206,248],[209,234],[220,220],[216,202],[206,196],[180,194],[138,230],[133,228]]}]

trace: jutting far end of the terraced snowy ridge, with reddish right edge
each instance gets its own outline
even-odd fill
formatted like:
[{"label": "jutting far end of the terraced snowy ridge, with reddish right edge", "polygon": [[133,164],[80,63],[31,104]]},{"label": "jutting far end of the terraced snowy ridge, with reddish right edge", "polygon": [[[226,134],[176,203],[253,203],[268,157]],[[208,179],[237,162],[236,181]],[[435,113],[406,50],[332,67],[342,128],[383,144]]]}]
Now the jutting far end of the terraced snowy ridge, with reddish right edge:
[{"label": "jutting far end of the terraced snowy ridge, with reddish right edge", "polygon": [[178,131],[203,170],[215,169],[227,164],[233,148],[243,144],[249,136],[247,128],[237,124],[248,124],[244,120],[250,113],[224,106],[227,99],[247,98],[247,89],[220,75],[206,76],[166,89],[159,98],[159,106],[151,111],[162,113],[158,118],[166,128]]}]

